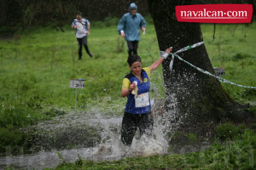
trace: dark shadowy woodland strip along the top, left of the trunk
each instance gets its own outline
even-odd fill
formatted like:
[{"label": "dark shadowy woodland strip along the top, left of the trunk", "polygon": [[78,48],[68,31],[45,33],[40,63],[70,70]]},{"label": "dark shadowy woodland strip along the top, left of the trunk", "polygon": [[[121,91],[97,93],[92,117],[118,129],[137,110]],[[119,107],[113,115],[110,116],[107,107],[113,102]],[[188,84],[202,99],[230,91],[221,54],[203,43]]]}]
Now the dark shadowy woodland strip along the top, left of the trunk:
[{"label": "dark shadowy woodland strip along the top, left of the trunk", "polygon": [[130,3],[137,3],[139,12],[148,14],[147,0],[3,0],[0,2],[0,34],[13,33],[32,25],[55,26],[63,31],[77,11],[85,18],[105,20],[121,17]]}]

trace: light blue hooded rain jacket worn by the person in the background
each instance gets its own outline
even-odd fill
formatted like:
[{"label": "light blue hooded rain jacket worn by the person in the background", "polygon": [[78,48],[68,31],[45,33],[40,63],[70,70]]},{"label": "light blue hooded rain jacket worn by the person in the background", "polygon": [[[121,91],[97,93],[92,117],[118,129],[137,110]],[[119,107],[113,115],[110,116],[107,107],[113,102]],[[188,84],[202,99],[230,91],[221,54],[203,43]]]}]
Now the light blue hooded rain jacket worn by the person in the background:
[{"label": "light blue hooded rain jacket worn by the person in the background", "polygon": [[[129,11],[131,8],[136,8],[137,11],[137,6],[135,3],[131,3]],[[143,16],[138,13],[132,15],[129,12],[124,14],[121,20],[119,20],[118,31],[119,34],[121,31],[125,32],[126,41],[140,41],[140,29],[142,27],[146,27],[146,21],[143,19]]]}]

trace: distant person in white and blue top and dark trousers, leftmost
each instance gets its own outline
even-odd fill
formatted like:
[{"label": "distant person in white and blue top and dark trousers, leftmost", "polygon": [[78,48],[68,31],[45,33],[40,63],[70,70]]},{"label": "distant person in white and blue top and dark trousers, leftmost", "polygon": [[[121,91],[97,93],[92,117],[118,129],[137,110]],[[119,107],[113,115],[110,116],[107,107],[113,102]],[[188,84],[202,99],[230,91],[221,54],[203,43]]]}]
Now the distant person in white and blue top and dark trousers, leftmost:
[{"label": "distant person in white and blue top and dark trousers, leftmost", "polygon": [[76,30],[76,37],[79,42],[79,59],[82,59],[82,48],[84,48],[89,54],[90,57],[93,55],[90,53],[90,50],[87,45],[87,35],[90,33],[90,22],[82,17],[82,14],[78,12],[76,14],[76,19],[73,20],[71,25],[73,29]]}]

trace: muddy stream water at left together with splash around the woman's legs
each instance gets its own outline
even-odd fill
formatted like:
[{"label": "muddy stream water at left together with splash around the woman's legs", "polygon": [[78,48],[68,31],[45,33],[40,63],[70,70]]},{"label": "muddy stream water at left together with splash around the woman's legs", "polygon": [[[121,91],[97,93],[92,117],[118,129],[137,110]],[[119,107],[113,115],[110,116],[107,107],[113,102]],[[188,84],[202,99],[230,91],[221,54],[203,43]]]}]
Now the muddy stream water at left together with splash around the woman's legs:
[{"label": "muddy stream water at left together with splash around the woman's legs", "polygon": [[[158,75],[156,75],[158,77]],[[50,131],[59,131],[61,128],[70,128],[70,126],[83,127],[84,124],[98,129],[101,140],[94,147],[82,147],[71,150],[54,150],[40,151],[30,155],[7,156],[0,157],[0,169],[8,165],[20,169],[42,169],[44,167],[56,167],[61,161],[74,162],[79,160],[79,156],[83,160],[103,161],[103,160],[119,160],[124,157],[131,156],[152,156],[164,155],[168,153],[169,141],[172,134],[176,131],[180,118],[177,115],[177,102],[175,95],[171,96],[172,103],[170,108],[172,111],[163,111],[164,99],[160,96],[158,89],[154,83],[151,84],[154,89],[154,103],[152,110],[154,115],[154,128],[152,135],[143,134],[140,138],[137,132],[131,147],[127,147],[120,141],[120,128],[122,116],[109,116],[108,114],[99,114],[98,109],[92,113],[69,113],[66,116],[56,117],[53,121],[40,123],[37,129],[49,129]],[[159,85],[158,85],[159,86]],[[163,86],[163,85],[162,85]],[[107,115],[107,116],[106,116]],[[74,133],[73,135],[76,135]],[[61,159],[56,153],[61,155]],[[79,155],[79,156],[78,156]]]}]

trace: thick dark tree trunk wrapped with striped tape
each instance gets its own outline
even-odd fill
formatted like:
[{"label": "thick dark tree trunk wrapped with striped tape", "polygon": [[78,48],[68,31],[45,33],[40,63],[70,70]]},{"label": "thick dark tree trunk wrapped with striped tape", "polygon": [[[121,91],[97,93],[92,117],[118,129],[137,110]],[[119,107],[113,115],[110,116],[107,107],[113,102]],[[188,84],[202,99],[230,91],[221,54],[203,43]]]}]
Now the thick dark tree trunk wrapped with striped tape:
[{"label": "thick dark tree trunk wrapped with striped tape", "polygon": [[[175,6],[184,5],[183,2],[148,0],[149,12],[154,20],[159,47],[162,51],[172,46],[175,52],[180,48],[203,41],[200,24],[177,22]],[[186,2],[186,4],[192,4],[194,1]],[[214,74],[204,44],[178,55]],[[183,124],[189,127],[204,122],[218,123],[227,120],[242,122],[244,120],[246,114],[241,111],[241,105],[230,98],[217,79],[195,70],[177,58],[174,59],[171,74],[170,61],[171,57],[163,63],[166,112],[175,108],[179,116],[176,118],[182,118]]]}]

